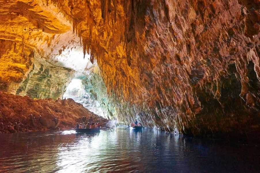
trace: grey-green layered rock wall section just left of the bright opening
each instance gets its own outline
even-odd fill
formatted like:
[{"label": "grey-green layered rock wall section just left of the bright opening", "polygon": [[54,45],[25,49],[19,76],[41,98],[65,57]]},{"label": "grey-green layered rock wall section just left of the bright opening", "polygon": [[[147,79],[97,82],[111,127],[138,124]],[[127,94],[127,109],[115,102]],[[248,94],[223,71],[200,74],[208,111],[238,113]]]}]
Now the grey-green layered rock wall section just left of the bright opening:
[{"label": "grey-green layered rock wall section just left of the bright opening", "polygon": [[54,66],[44,59],[37,59],[27,78],[16,90],[16,95],[27,95],[31,98],[62,98],[74,76],[74,70]]}]

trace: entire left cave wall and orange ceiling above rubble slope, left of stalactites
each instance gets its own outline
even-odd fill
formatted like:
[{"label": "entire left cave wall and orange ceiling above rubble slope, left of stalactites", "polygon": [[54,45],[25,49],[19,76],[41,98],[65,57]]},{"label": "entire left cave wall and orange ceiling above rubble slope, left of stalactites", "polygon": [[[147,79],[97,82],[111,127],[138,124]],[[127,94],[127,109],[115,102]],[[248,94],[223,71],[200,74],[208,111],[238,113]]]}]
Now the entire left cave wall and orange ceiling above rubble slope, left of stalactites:
[{"label": "entire left cave wall and orange ceiling above rubble slope, left of stalactites", "polygon": [[31,98],[62,97],[74,70],[57,66],[53,56],[78,47],[71,24],[43,1],[0,1],[0,11],[0,90]]}]

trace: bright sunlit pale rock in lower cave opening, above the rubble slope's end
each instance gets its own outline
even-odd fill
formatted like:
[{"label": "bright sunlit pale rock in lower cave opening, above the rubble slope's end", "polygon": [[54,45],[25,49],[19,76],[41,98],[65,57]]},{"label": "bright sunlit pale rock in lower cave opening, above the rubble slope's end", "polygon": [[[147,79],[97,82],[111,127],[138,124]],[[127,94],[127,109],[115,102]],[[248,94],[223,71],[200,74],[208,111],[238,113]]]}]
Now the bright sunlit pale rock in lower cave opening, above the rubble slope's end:
[{"label": "bright sunlit pale rock in lower cave opening, above the rubble slope's end", "polygon": [[67,86],[63,98],[72,98],[90,111],[105,118],[115,118],[116,110],[107,95],[107,87],[97,72],[81,74]]}]

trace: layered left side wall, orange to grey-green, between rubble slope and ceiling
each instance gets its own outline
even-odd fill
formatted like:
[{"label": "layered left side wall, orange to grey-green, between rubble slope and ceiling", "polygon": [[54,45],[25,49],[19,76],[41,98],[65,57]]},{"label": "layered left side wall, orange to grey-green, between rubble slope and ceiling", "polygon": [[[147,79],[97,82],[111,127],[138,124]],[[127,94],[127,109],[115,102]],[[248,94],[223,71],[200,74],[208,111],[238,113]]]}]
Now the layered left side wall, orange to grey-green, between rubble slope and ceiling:
[{"label": "layered left side wall, orange to grey-green, between rubble slope and ceiling", "polygon": [[74,70],[50,64],[33,46],[2,35],[0,90],[31,98],[62,97]]}]

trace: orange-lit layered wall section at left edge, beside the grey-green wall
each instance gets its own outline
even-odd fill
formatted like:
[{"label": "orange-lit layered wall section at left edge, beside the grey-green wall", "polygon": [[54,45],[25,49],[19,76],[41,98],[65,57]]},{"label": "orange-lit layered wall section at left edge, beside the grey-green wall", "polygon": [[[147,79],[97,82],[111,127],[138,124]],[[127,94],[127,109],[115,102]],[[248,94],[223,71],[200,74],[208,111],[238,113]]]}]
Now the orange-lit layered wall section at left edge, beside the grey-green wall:
[{"label": "orange-lit layered wall section at left edge, beside the grey-green wall", "polygon": [[33,61],[34,51],[16,41],[16,37],[1,38],[0,90],[15,93],[32,68]]}]

